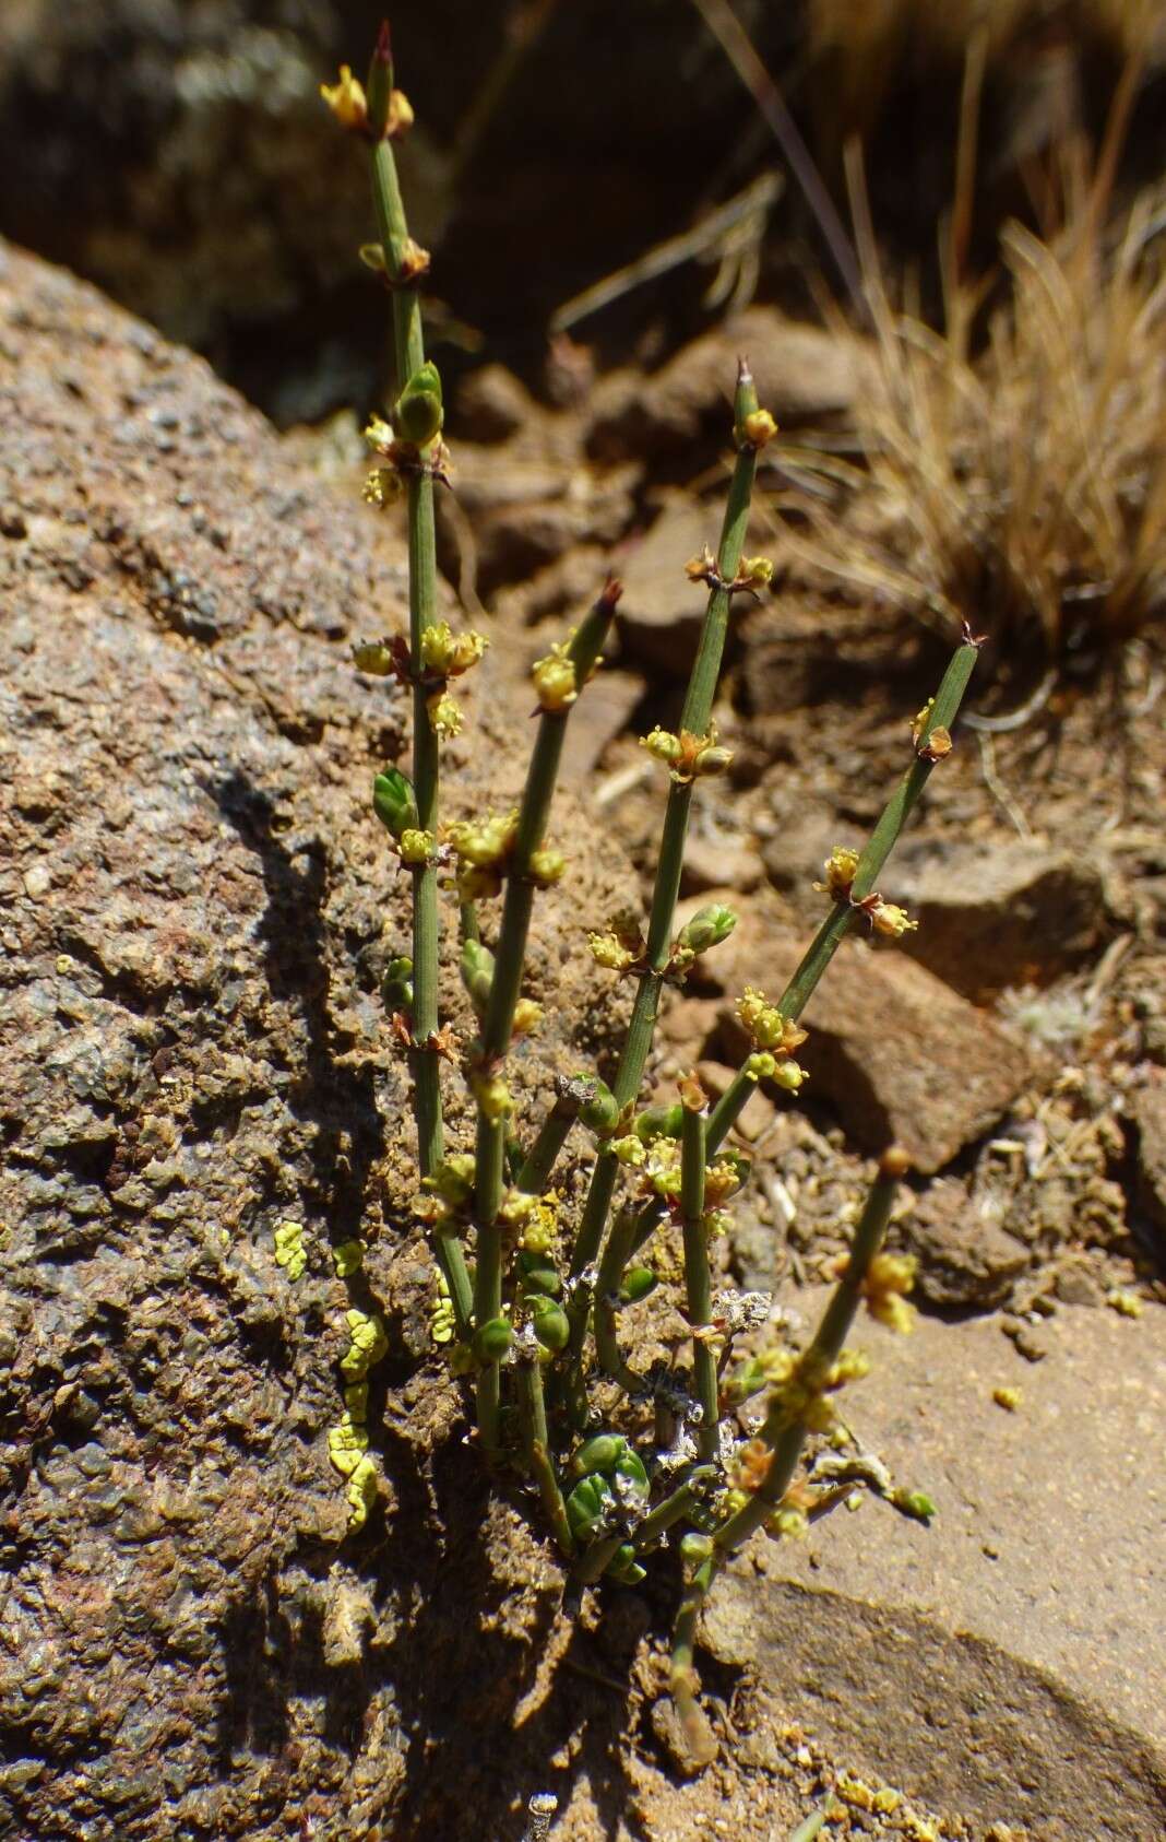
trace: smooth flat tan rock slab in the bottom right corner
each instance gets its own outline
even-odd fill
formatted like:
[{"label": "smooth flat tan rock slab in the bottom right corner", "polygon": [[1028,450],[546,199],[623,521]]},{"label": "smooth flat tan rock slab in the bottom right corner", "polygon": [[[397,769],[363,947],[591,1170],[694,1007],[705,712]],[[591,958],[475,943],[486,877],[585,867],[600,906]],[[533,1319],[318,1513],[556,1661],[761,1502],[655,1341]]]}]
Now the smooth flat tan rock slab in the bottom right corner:
[{"label": "smooth flat tan rock slab in the bottom right corner", "polygon": [[[707,1647],[761,1671],[775,1719],[976,1836],[1159,1835],[1166,1499],[1146,1453],[1166,1312],[1059,1312],[1039,1369],[984,1321],[860,1328],[875,1367],[847,1420],[939,1514],[923,1527],[868,1503],[805,1544],[757,1542],[709,1599]],[[1022,1389],[1015,1415],[993,1404],[1004,1382]]]}]

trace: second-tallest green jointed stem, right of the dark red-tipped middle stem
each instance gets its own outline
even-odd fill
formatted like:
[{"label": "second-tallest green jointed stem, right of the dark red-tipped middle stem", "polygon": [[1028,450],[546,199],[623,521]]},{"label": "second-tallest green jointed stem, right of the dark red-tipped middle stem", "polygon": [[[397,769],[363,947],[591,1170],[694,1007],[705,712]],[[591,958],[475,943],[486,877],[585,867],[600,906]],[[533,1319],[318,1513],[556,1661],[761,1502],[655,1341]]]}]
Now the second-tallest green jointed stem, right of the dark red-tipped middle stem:
[{"label": "second-tallest green jointed stem, right of the dark red-tipped middle stem", "polygon": [[[752,372],[744,359],[737,372],[737,396],[733,400],[733,422],[740,429],[746,416],[753,414],[757,409],[757,387],[753,383]],[[757,449],[748,442],[742,442],[737,449],[737,462],[733,466],[733,479],[729,484],[729,497],[724,510],[724,521],[720,527],[720,547],[717,553],[717,575],[722,582],[731,582],[737,575],[740,564],[740,553],[744,549],[744,536],[750,523],[750,503],[753,495],[753,475],[757,472]],[[696,661],[689,678],[689,689],[683,700],[683,711],[680,717],[682,729],[691,735],[704,735],[709,728],[709,717],[713,715],[713,698],[717,694],[717,680],[720,678],[720,661],[724,658],[724,641],[729,623],[729,589],[713,588],[709,593],[709,604],[705,608],[704,626],[700,630],[700,645],[696,648]],[[645,1063],[648,1059],[648,1050],[652,1048],[652,1033],[656,1030],[656,1015],[659,1011],[659,993],[663,984],[663,973],[669,965],[669,954],[672,947],[672,921],[676,915],[676,899],[680,895],[680,871],[683,868],[683,845],[689,829],[689,807],[693,803],[691,783],[676,783],[669,787],[669,805],[663,820],[663,833],[659,842],[659,862],[656,866],[656,886],[652,892],[652,910],[648,917],[648,947],[647,962],[648,971],[639,980],[635,991],[635,1004],[632,1006],[632,1020],[628,1024],[628,1037],[619,1061],[619,1070],[612,1090],[617,1102],[626,1105],[635,1100],[639,1092],[639,1083],[643,1079]],[[578,1225],[578,1236],[575,1242],[575,1251],[571,1254],[571,1273],[578,1275],[584,1267],[591,1265],[597,1258],[604,1229],[608,1225],[608,1212],[612,1208],[612,1192],[615,1188],[615,1157],[612,1151],[600,1149],[595,1159],[595,1170],[591,1173],[591,1188],[588,1192],[588,1201],[584,1205],[584,1214]],[[580,1304],[573,1319],[573,1328],[582,1323],[586,1326],[586,1289],[578,1291]],[[578,1337],[580,1332],[577,1332]],[[573,1337],[573,1347],[577,1347],[577,1337]]]}]

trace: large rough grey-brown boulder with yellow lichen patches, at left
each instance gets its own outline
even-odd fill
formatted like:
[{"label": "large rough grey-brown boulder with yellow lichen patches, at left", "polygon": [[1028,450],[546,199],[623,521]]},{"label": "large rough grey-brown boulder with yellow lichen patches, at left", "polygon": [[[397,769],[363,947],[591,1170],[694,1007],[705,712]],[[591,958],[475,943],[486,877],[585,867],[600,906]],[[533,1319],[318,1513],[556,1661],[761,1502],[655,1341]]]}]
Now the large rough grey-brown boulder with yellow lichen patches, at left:
[{"label": "large rough grey-brown boulder with yellow lichen patches, at left", "polygon": [[[398,624],[400,553],[201,361],[13,251],[0,348],[0,1829],[409,1835],[459,1696],[508,1730],[556,1582],[424,1367],[378,998],[407,903],[367,810],[400,705],[346,656]],[[496,798],[518,785],[503,717],[451,750],[453,807],[470,750]],[[615,899],[610,853],[562,823],[580,869],[531,987],[602,1037],[564,958]],[[330,1242],[357,1227],[344,1284]],[[326,1457],[350,1304],[391,1328],[354,1540]]]}]

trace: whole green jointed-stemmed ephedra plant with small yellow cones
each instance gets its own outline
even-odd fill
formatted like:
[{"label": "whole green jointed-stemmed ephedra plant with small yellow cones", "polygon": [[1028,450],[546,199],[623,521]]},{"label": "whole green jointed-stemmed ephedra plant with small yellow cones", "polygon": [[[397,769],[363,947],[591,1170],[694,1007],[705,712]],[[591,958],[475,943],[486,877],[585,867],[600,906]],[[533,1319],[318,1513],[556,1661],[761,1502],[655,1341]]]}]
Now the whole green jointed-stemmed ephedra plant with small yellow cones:
[{"label": "whole green jointed-stemmed ephedra plant with small yellow cones", "polygon": [[[667,775],[656,886],[647,919],[632,912],[600,923],[589,947],[613,978],[634,984],[634,1006],[612,1085],[591,1074],[560,1081],[543,1120],[521,1120],[507,1081],[516,1033],[538,1024],[521,995],[527,938],[538,925],[540,892],[567,871],[549,834],[566,726],[602,658],[619,584],[608,580],[589,612],[532,669],[538,726],[516,810],[444,823],[442,742],[461,726],[449,691],[483,654],[479,634],[451,632],[437,617],[433,499],[448,484],[442,385],[426,359],[418,284],[429,258],[409,236],[394,142],[413,112],[392,85],[389,31],[381,31],[368,83],[341,72],[324,98],[341,123],[367,140],[379,243],[365,252],[392,300],[396,400],[367,435],[378,455],[367,497],[405,497],[409,516],[409,635],[356,648],[365,672],[396,676],[413,696],[411,774],[387,766],[374,783],[374,809],[391,849],[413,880],[413,950],[391,967],[392,1028],[413,1072],[418,1186],[414,1208],[427,1225],[440,1273],[455,1372],[473,1396],[486,1464],[525,1474],[547,1531],[575,1579],[635,1582],[652,1555],[678,1544],[685,1590],[672,1652],[672,1693],[696,1757],[711,1733],[696,1702],[693,1639],[717,1571],[755,1529],[790,1536],[851,1485],[814,1488],[799,1472],[810,1433],[836,1429],[834,1396],[864,1372],[845,1339],[862,1302],[890,1324],[910,1313],[910,1262],[882,1251],[895,1188],[906,1172],[888,1149],[840,1264],[836,1291],[805,1348],[766,1341],[768,1299],[713,1291],[709,1243],[728,1225],[728,1205],[748,1181],[746,1160],[728,1138],[755,1083],[796,1094],[805,1079],[796,1050],[801,1013],[838,945],[855,927],[899,936],[914,923],[886,903],[877,880],[936,763],[950,752],[950,728],[976,663],[965,632],[936,696],[904,724],[906,766],[862,851],[838,845],[822,884],[827,914],[785,991],[770,1000],[748,987],[737,1011],[750,1054],[709,1107],[694,1076],[676,1100],[643,1105],[641,1087],[661,1002],[683,985],[693,963],[726,939],[735,915],[702,908],[676,927],[676,899],[693,792],[722,774],[729,752],[711,720],[726,634],[735,604],[768,580],[764,558],[744,556],[757,457],[775,433],[742,359],[733,400],[733,475],[720,538],[687,564],[705,615],[680,728],[654,729],[643,746]],[[678,564],[680,565],[680,564]],[[525,715],[525,711],[523,711]],[[453,884],[442,903],[442,880]],[[459,927],[461,973],[477,1015],[472,1043],[455,1044],[442,1024],[438,934]],[[764,969],[759,967],[759,976]],[[459,1072],[451,1063],[457,1050]],[[444,1070],[451,1072],[444,1076]],[[475,1102],[473,1149],[451,1151],[442,1129],[442,1078],[466,1079]],[[551,1181],[567,1140],[589,1160],[578,1219],[554,1207]],[[689,1341],[674,1365],[635,1369],[621,1341],[621,1310],[656,1286],[654,1247],[672,1234],[683,1249],[683,1313]],[[337,1463],[348,1474],[367,1446],[363,1372],[378,1330],[357,1326],[357,1385],[348,1389],[346,1440]],[[750,1334],[750,1354],[740,1339]],[[348,1376],[346,1376],[348,1378]],[[742,1437],[739,1409],[750,1402],[755,1431]],[[845,1442],[845,1433],[836,1437]],[[890,1486],[888,1486],[890,1488]],[[359,1496],[359,1492],[357,1492]],[[923,1496],[897,1492],[908,1514],[930,1514]],[[359,1503],[354,1499],[359,1516]]]}]

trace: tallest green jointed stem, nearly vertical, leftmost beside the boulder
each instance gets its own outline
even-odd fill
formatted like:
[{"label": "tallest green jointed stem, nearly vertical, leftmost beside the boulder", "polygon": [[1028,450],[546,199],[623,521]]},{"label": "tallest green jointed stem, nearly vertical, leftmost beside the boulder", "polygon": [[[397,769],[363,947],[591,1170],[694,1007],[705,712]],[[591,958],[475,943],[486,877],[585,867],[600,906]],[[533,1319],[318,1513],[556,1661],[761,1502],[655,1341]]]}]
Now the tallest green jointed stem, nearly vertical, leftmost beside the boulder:
[{"label": "tallest green jointed stem, nearly vertical, leftmost beside the boulder", "polygon": [[[387,41],[381,37],[374,55],[374,79],[391,83]],[[372,204],[379,228],[385,274],[392,287],[392,344],[396,354],[396,387],[405,389],[409,378],[426,361],[422,337],[422,309],[416,286],[411,282],[409,225],[396,177],[392,144],[378,140],[372,149]],[[437,619],[437,540],[433,525],[433,477],[416,473],[409,481],[409,661],[413,670],[413,790],[418,827],[437,831],[440,796],[438,740],[429,722],[426,687],[420,682],[422,632]],[[427,1177],[444,1151],[440,1055],[435,1044],[438,1028],[438,906],[437,866],[418,864],[413,869],[413,1109],[416,1114],[418,1166]],[[470,1323],[470,1275],[457,1236],[437,1238],[437,1256],[442,1265],[459,1332]]]}]

